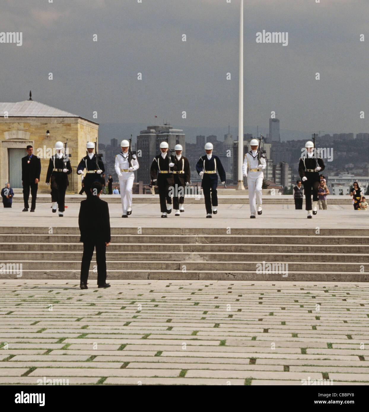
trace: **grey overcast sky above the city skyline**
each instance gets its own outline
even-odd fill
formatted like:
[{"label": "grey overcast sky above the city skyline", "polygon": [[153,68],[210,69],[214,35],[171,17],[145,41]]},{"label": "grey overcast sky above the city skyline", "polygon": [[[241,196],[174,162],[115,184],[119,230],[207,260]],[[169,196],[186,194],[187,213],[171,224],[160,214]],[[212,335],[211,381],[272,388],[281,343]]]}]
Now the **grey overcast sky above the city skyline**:
[{"label": "grey overcast sky above the city skyline", "polygon": [[[157,115],[179,128],[237,127],[239,6],[3,0],[0,32],[21,31],[23,44],[0,44],[0,101],[26,100],[31,89],[88,119],[96,110],[99,123],[149,125]],[[368,21],[368,0],[245,0],[245,128],[268,127],[275,110],[281,129],[369,132]],[[288,32],[288,46],[256,43],[263,29]]]}]

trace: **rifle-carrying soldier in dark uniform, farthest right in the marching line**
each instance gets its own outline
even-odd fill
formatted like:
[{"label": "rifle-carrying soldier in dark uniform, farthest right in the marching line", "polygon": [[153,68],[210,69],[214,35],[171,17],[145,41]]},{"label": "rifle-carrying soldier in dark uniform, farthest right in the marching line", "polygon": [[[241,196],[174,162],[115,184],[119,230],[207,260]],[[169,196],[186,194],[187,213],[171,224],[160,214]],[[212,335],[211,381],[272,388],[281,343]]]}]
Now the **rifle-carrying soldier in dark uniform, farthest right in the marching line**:
[{"label": "rifle-carrying soldier in dark uniform, farthest right in the marching line", "polygon": [[[312,141],[306,142],[305,153],[300,157],[298,174],[304,185],[305,204],[308,211],[308,219],[317,214],[318,188],[320,183],[319,172],[324,170],[324,162],[318,157]],[[311,204],[311,192],[313,192],[313,204]]]}]

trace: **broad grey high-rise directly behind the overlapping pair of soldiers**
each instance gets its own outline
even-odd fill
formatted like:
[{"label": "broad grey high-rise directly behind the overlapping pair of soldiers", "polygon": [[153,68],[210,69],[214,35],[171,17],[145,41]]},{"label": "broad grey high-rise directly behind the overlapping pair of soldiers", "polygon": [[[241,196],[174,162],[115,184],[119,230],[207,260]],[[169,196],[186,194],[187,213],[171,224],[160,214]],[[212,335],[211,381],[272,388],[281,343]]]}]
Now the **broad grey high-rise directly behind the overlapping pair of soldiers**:
[{"label": "broad grey high-rise directly behind the overlapping pair of soldiers", "polygon": [[168,142],[169,148],[174,150],[177,144],[182,145],[183,156],[186,156],[186,136],[181,129],[173,129],[169,123],[161,126],[148,126],[137,136],[137,151],[140,167],[137,171],[137,181],[143,184],[150,183],[150,167],[153,158],[160,153],[160,143]]}]

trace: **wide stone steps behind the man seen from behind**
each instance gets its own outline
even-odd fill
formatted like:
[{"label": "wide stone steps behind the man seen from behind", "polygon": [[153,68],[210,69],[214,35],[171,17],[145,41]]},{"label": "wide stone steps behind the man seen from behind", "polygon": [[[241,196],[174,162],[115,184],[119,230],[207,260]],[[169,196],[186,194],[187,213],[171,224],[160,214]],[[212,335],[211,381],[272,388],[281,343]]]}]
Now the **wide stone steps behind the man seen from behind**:
[{"label": "wide stone steps behind the man seen from behind", "polygon": [[[320,234],[313,228],[252,232],[237,228],[230,229],[232,234],[228,230],[112,228],[106,253],[108,279],[369,280],[365,229],[322,229]],[[3,226],[1,263],[5,267],[21,263],[22,280],[79,279],[83,250],[79,239],[78,227]],[[95,255],[91,279],[96,279],[94,259]],[[279,265],[268,266],[272,263]],[[17,277],[0,270],[0,279]]]}]

